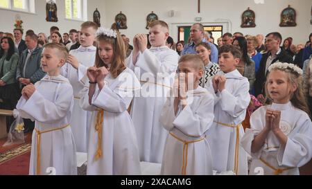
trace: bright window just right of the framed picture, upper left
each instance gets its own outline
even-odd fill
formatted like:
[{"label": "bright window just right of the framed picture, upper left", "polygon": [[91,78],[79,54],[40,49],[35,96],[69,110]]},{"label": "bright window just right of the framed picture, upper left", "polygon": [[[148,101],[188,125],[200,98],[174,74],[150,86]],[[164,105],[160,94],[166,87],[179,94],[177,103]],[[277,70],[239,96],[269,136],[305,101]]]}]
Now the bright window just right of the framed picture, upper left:
[{"label": "bright window just right of the framed picture, upper left", "polygon": [[87,0],[65,0],[67,19],[87,21]]}]

